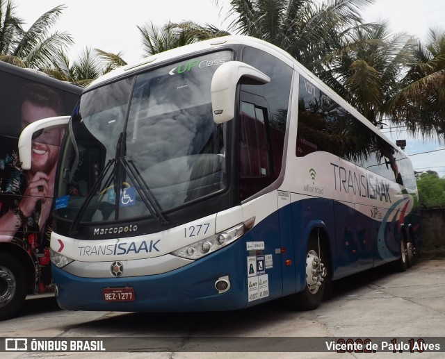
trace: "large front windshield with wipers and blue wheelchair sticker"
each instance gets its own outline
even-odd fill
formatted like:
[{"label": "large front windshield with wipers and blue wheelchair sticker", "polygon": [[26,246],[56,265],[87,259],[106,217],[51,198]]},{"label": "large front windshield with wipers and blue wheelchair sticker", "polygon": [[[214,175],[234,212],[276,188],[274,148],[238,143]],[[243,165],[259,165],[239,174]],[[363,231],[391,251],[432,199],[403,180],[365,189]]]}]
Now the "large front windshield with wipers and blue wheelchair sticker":
[{"label": "large front windshield with wipers and blue wheelchair sticker", "polygon": [[225,125],[211,78],[230,51],[107,83],[81,97],[60,158],[55,215],[81,222],[156,217],[224,190]]}]

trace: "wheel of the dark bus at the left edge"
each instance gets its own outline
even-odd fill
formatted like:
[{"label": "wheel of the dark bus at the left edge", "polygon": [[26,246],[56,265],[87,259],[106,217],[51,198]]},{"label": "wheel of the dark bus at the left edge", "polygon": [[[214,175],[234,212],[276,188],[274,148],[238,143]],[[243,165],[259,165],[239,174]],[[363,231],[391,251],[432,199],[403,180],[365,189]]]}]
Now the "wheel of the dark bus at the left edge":
[{"label": "wheel of the dark bus at the left edge", "polygon": [[20,260],[0,253],[0,320],[14,317],[26,299],[26,275]]}]

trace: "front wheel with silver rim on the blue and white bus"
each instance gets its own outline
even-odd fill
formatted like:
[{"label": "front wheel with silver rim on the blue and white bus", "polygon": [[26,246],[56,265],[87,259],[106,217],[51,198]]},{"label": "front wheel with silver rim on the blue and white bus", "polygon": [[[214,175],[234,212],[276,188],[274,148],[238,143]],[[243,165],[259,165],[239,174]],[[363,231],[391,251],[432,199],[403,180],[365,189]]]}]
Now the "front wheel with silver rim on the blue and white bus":
[{"label": "front wheel with silver rim on the blue and white bus", "polygon": [[318,248],[318,239],[309,239],[306,251],[305,289],[294,294],[293,305],[298,310],[313,310],[320,306],[327,287],[327,262],[323,245]]}]

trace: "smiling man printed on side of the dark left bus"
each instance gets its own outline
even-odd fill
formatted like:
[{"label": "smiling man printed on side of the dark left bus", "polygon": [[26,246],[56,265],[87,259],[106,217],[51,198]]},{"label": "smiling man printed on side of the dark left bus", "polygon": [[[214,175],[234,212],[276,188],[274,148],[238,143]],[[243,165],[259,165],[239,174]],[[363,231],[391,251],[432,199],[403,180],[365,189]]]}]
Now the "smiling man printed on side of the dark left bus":
[{"label": "smiling man printed on side of the dark left bus", "polygon": [[[54,90],[35,83],[23,87],[22,128],[62,112],[60,97]],[[29,245],[36,253],[49,248],[49,217],[62,136],[62,130],[51,130],[35,139],[29,171],[20,167],[16,150],[0,159],[0,191],[11,194],[0,203],[0,242],[23,241],[22,245]]]}]

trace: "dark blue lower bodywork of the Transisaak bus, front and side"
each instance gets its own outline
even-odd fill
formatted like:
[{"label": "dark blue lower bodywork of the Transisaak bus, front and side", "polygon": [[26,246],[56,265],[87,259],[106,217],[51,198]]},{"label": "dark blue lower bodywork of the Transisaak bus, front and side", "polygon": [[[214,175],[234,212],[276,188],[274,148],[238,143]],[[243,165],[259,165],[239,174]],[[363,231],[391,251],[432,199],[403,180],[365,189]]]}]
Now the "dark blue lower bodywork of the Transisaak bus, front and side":
[{"label": "dark blue lower bodywork of the Transisaak bus, front and side", "polygon": [[[80,278],[53,266],[58,302],[67,310],[175,312],[253,306],[304,288],[306,244],[314,228],[323,228],[332,237],[334,279],[396,259],[400,256],[396,214],[391,212],[379,222],[340,202],[317,198],[296,201],[266,217],[229,247],[165,274]],[[265,248],[252,253],[246,248],[247,242],[264,242]],[[383,256],[379,249],[382,246],[386,248]],[[257,254],[273,257],[273,266],[266,269],[269,295],[248,301],[247,257]],[[291,265],[286,265],[286,260],[291,260]],[[218,294],[215,282],[222,276],[229,276],[232,286]],[[126,286],[134,288],[136,301],[106,303],[102,299],[102,288]]]}]

